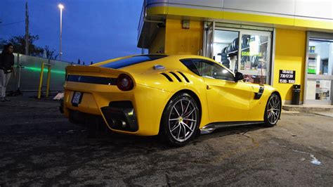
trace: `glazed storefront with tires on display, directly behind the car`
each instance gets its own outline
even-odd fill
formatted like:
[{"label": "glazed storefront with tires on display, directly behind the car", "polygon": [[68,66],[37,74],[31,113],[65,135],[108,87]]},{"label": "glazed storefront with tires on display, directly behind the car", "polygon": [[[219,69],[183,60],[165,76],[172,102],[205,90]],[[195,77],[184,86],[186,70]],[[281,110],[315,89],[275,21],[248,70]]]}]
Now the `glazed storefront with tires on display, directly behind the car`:
[{"label": "glazed storefront with tires on display, directly behind the car", "polygon": [[247,82],[269,84],[271,32],[209,26],[206,33],[205,56],[242,72]]}]

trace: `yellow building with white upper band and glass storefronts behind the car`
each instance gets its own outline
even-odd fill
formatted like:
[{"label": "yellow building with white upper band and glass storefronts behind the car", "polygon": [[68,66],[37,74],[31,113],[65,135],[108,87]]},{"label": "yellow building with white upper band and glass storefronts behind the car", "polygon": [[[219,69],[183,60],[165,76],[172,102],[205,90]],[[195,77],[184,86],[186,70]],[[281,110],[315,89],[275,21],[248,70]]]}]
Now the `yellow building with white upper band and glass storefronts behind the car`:
[{"label": "yellow building with white upper band and glass storefronts behind the car", "polygon": [[332,0],[145,0],[138,47],[214,58],[292,101],[332,105]]}]

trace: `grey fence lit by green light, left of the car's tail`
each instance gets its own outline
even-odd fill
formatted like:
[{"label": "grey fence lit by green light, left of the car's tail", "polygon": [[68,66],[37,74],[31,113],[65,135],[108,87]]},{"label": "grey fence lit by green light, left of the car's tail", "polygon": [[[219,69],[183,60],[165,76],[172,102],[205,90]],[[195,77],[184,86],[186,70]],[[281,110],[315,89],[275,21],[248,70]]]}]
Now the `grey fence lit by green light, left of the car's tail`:
[{"label": "grey fence lit by green light, left of the car's tail", "polygon": [[[51,79],[50,91],[63,91],[63,84],[65,83],[65,67],[70,63],[49,60],[47,58],[39,58],[34,56],[25,56],[22,54],[14,53],[15,57],[15,77],[11,77],[8,84],[7,91],[37,91],[39,86],[39,75],[41,72],[42,63],[51,64]],[[46,87],[48,69],[44,69],[43,89]]]}]

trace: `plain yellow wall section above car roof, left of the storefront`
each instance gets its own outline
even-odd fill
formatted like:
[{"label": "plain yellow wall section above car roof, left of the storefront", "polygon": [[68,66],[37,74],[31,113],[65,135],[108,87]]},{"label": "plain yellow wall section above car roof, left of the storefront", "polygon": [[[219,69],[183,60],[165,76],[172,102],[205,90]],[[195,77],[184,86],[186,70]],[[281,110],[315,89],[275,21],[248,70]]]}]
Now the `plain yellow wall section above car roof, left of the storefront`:
[{"label": "plain yellow wall section above car roof, left of the storefront", "polygon": [[202,21],[190,20],[190,29],[183,29],[182,20],[166,19],[165,53],[200,54],[203,32]]}]

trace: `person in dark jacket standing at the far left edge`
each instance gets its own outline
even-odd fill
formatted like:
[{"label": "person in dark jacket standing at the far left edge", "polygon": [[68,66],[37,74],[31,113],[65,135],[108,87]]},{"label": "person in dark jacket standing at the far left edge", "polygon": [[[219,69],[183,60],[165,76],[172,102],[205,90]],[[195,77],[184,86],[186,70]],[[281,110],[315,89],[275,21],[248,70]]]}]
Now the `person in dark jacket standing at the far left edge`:
[{"label": "person in dark jacket standing at the far left edge", "polygon": [[13,44],[7,44],[4,51],[0,55],[0,101],[10,101],[6,98],[6,86],[9,79],[11,79],[11,73],[13,72],[14,65],[14,46]]}]

